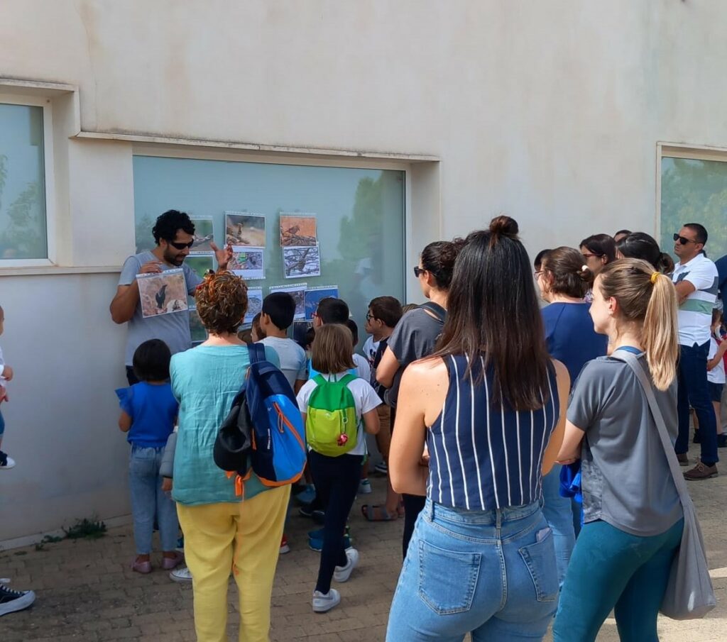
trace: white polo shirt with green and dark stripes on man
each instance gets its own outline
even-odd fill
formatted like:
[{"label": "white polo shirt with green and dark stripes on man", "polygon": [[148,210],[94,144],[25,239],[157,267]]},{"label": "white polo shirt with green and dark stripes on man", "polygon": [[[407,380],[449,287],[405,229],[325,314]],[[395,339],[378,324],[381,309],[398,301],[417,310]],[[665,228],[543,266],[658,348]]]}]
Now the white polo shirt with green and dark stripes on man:
[{"label": "white polo shirt with green and dark stripes on man", "polygon": [[679,306],[679,343],[683,346],[702,346],[712,336],[712,308],[717,300],[718,275],[715,264],[704,254],[697,254],[686,263],[679,263],[672,274],[674,283],[688,281],[694,285]]}]

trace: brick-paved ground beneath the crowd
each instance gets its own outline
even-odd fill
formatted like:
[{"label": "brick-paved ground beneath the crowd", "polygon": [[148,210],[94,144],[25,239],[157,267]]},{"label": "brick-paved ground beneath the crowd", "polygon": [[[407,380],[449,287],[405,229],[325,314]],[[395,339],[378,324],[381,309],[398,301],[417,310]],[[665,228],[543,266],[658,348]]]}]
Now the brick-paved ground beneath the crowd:
[{"label": "brick-paved ground beneath the crowd", "polygon": [[[273,590],[273,642],[384,639],[401,566],[402,522],[364,521],[361,503],[382,499],[385,489],[380,477],[372,484],[373,494],[358,498],[350,519],[361,566],[340,586],[341,605],[328,614],[310,609],[318,553],[308,550],[306,532],[316,526],[291,511],[286,533],[292,550],[280,558]],[[690,482],[689,488],[704,530],[718,606],[702,620],[660,618],[659,636],[662,642],[723,642],[727,640],[727,467],[723,476]],[[111,529],[100,540],[63,540],[41,550],[0,553],[0,577],[12,578],[12,588],[32,588],[37,594],[31,609],[0,618],[0,641],[195,640],[191,586],[171,582],[159,570],[148,576],[132,573],[133,553],[130,527]],[[231,640],[237,640],[234,583],[228,599],[228,632]],[[613,619],[603,625],[598,640],[618,640]]]}]

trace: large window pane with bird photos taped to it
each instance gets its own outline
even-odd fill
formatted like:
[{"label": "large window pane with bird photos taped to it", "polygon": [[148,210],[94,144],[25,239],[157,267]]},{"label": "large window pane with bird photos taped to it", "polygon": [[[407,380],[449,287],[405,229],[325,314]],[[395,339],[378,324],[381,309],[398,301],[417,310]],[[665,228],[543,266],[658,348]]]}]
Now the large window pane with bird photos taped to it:
[{"label": "large window pane with bird photos taped to it", "polygon": [[[371,298],[403,301],[403,171],[134,156],[137,252],[153,247],[153,223],[169,209],[212,216],[220,246],[225,211],[264,214],[265,279],[250,287],[267,296],[270,285],[338,285],[358,323],[358,349]],[[320,276],[284,277],[280,212],[316,214]]]}]

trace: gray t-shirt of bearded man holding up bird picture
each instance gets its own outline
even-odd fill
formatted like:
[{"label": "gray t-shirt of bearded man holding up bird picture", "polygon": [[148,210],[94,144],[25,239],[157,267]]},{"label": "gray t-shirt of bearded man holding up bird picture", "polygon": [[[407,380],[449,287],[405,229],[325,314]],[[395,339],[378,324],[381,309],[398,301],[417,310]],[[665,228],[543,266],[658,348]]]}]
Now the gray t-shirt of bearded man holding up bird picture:
[{"label": "gray t-shirt of bearded man holding up bird picture", "polygon": [[[124,261],[124,267],[121,268],[119,285],[131,285],[136,275],[139,274],[142,265],[149,261],[158,261],[156,256],[149,251],[129,256]],[[161,261],[160,267],[164,271],[178,269],[172,265],[167,265],[164,261]],[[193,294],[194,288],[202,283],[202,280],[185,263],[182,263],[182,270],[187,283],[187,291]],[[126,365],[132,365],[134,352],[144,341],[149,339],[161,339],[169,346],[172,354],[188,350],[192,344],[192,336],[189,330],[189,312],[187,310],[170,312],[169,314],[158,314],[156,317],[147,317],[145,319],[141,313],[141,303],[137,303],[134,316],[129,320],[129,334],[126,336],[126,352],[124,354]]]}]

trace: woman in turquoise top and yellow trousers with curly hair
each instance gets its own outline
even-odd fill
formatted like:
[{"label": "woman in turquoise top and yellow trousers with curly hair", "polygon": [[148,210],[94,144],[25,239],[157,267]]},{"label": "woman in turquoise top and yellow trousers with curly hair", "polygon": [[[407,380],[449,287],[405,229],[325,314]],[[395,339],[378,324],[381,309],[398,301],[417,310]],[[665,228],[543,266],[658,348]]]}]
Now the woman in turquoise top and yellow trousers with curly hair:
[{"label": "woman in turquoise top and yellow trousers with curly hair", "polygon": [[[290,486],[268,488],[252,474],[240,487],[214,464],[212,449],[250,365],[237,326],[247,309],[247,286],[231,272],[207,275],[196,290],[209,338],[174,354],[172,391],[180,404],[174,489],[193,577],[197,639],[227,640],[227,591],[232,569],[240,600],[240,640],[267,642],[270,595]],[[278,355],[265,348],[268,361]]]}]

